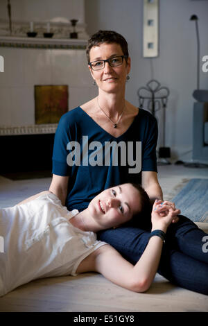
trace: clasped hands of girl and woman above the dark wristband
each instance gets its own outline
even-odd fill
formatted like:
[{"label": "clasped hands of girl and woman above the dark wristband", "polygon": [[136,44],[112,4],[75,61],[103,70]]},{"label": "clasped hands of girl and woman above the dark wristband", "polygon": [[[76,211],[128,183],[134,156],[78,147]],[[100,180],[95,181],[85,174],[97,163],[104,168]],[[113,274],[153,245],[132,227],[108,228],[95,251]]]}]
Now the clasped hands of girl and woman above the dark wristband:
[{"label": "clasped hands of girl and woman above the dark wristband", "polygon": [[175,209],[174,203],[155,200],[152,211],[152,231],[159,229],[166,232],[168,225],[178,221],[178,214],[180,214],[180,209]]}]

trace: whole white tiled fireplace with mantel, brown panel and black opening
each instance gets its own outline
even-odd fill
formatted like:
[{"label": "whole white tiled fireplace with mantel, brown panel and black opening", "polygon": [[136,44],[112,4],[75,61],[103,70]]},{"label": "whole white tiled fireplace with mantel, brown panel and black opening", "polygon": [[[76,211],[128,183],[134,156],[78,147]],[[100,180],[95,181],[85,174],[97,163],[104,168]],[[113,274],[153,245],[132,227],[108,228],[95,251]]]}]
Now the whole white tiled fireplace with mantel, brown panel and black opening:
[{"label": "whole white tiled fireplace with mantel, brown panel and black opening", "polygon": [[67,37],[60,39],[0,36],[12,67],[5,69],[1,80],[0,175],[51,171],[60,117],[96,95],[86,65],[88,35],[79,33],[80,39],[71,40],[68,27],[64,25]]}]

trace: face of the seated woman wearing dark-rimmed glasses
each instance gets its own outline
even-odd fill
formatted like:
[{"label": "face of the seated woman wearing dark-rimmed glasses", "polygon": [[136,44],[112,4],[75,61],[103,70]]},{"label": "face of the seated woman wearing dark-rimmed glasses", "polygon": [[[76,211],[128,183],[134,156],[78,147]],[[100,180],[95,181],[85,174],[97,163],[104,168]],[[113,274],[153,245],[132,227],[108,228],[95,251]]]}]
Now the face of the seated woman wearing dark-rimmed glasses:
[{"label": "face of the seated woman wearing dark-rimmed glasses", "polygon": [[[90,62],[114,58],[117,55],[123,55],[123,51],[116,43],[102,43],[99,46],[93,46],[89,51]],[[89,66],[89,70],[100,89],[105,92],[115,92],[125,85],[126,76],[130,72],[130,58],[127,63],[123,59],[123,64],[118,67],[110,67],[108,62],[105,62],[103,69],[94,71]]]}]

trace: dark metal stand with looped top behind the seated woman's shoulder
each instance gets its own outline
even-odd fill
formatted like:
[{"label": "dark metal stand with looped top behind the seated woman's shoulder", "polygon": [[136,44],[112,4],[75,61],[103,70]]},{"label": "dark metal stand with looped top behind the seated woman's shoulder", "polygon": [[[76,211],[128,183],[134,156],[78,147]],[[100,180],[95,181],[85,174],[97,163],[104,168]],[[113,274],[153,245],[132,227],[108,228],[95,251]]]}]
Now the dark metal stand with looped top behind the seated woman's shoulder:
[{"label": "dark metal stand with looped top behind the seated woman's shoulder", "polygon": [[140,108],[144,108],[144,102],[148,101],[147,110],[153,114],[154,117],[155,113],[159,111],[161,107],[163,108],[163,146],[159,148],[159,158],[163,160],[157,162],[159,165],[171,164],[171,162],[167,160],[167,158],[171,157],[171,149],[165,146],[166,105],[169,94],[169,89],[167,87],[161,87],[160,83],[155,79],[150,80],[146,84],[146,87],[140,87],[137,91]]}]

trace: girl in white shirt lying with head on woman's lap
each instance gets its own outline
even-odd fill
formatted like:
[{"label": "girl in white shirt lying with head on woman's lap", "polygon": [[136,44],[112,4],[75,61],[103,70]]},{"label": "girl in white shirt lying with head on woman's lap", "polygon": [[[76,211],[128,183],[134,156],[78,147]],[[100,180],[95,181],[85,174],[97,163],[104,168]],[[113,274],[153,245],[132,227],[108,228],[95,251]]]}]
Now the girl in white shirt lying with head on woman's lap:
[{"label": "girl in white shirt lying with head on woman's lap", "polygon": [[160,237],[173,221],[173,209],[160,203],[155,203],[157,212],[152,213],[152,230],[159,230],[150,234],[155,239],[150,239],[135,267],[110,245],[97,241],[94,232],[121,225],[149,207],[141,187],[124,184],[106,189],[83,212],[69,212],[50,191],[1,208],[5,252],[0,254],[0,295],[37,278],[87,271],[102,273],[132,291],[146,291],[159,264]]}]

